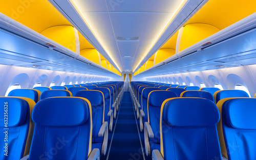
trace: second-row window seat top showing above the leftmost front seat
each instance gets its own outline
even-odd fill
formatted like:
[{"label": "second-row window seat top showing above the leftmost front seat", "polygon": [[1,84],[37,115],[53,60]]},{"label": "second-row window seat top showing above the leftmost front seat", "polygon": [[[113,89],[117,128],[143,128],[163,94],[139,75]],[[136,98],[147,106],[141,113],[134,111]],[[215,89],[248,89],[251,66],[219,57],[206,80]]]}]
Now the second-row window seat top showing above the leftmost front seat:
[{"label": "second-row window seat top showing above the leftmost front seat", "polygon": [[9,92],[8,97],[27,97],[37,103],[40,95],[41,92],[35,89],[14,89]]}]

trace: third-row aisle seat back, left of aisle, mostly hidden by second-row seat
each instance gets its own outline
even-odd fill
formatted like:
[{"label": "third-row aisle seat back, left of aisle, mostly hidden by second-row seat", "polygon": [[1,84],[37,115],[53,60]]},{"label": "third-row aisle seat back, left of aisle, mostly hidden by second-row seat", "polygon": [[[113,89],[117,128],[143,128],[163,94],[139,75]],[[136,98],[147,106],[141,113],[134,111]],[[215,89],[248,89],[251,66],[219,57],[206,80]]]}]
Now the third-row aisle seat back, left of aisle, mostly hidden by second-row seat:
[{"label": "third-row aisle seat back, left of aisle, mostly hidden by second-row seat", "polygon": [[96,87],[93,88],[92,90],[97,90],[101,91],[104,95],[104,100],[105,100],[105,113],[104,113],[104,120],[110,122],[110,117],[108,116],[109,111],[111,110],[111,92],[110,89],[105,88],[105,87]]}]

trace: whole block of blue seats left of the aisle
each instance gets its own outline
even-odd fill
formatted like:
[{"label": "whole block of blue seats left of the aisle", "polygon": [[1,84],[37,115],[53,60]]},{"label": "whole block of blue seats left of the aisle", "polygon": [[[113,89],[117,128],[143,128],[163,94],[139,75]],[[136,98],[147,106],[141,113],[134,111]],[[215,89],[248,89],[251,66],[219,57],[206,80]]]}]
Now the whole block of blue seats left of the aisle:
[{"label": "whole block of blue seats left of the aisle", "polygon": [[[8,121],[0,118],[1,128],[8,130],[7,151],[0,154],[1,159],[7,157],[4,153],[8,159],[96,159],[104,155],[113,127],[112,106],[122,99],[123,83],[105,83],[90,90],[73,88],[79,90],[75,97],[69,90],[41,93],[36,89],[16,89],[0,97],[5,105],[1,115],[8,115]],[[0,135],[6,137],[5,132]]]}]

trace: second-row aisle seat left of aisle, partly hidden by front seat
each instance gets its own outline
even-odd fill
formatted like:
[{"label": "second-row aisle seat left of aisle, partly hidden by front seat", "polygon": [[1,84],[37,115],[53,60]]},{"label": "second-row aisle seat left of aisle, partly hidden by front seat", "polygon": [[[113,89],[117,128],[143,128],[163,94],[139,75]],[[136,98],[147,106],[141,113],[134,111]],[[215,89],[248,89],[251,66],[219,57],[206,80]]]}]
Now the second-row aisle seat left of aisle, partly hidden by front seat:
[{"label": "second-row aisle seat left of aisle, partly hidden by front seat", "polygon": [[[83,97],[90,101],[92,105],[92,122],[93,122],[93,132],[92,132],[92,149],[98,148],[101,150],[101,154],[105,155],[106,148],[108,146],[108,122],[104,121],[105,115],[105,101],[104,95],[101,91],[97,90],[81,90],[75,95],[76,97]],[[105,122],[105,123],[104,123]],[[106,130],[105,139],[103,140],[103,135],[99,136],[99,131],[103,127]],[[104,141],[104,142],[103,142]]]}]

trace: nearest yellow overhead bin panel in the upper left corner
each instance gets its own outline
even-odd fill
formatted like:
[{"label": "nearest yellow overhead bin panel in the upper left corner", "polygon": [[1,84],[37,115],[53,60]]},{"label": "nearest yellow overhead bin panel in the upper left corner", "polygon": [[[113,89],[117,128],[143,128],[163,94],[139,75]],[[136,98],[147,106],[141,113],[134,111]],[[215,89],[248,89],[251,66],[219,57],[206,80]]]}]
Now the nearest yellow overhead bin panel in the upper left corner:
[{"label": "nearest yellow overhead bin panel in the upper left corner", "polygon": [[51,26],[71,25],[49,1],[0,0],[0,12],[38,33]]}]

